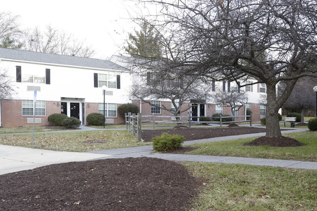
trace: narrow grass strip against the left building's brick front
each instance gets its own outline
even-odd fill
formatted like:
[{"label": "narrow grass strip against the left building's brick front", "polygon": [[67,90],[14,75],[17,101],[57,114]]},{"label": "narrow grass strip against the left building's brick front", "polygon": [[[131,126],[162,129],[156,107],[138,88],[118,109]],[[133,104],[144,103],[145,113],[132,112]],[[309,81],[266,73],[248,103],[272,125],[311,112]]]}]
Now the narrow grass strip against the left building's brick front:
[{"label": "narrow grass strip against the left building's brick front", "polygon": [[[34,127],[34,132],[49,132],[49,131],[61,131],[61,130],[69,130],[63,127],[45,127],[45,126],[37,126]],[[20,128],[0,128],[0,134],[20,134],[20,133],[32,133],[33,127],[20,127]]]}]

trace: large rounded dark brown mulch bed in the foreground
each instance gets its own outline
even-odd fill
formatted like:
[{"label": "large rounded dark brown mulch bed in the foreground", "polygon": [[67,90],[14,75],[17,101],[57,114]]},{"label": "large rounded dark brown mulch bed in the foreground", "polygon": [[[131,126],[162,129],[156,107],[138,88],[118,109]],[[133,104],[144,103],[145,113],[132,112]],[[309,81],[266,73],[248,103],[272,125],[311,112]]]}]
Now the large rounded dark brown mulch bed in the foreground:
[{"label": "large rounded dark brown mulch bed in the foreground", "polygon": [[0,175],[1,211],[185,211],[198,191],[158,158],[71,162]]}]

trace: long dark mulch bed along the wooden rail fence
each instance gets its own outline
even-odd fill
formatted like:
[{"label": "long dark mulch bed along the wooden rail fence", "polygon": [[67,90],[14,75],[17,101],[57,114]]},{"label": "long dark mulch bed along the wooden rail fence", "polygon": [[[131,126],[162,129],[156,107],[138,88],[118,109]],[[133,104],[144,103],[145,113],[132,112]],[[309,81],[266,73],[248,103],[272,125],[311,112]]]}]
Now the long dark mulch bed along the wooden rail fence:
[{"label": "long dark mulch bed along the wooden rail fence", "polygon": [[142,130],[142,139],[146,142],[163,133],[183,135],[185,141],[214,138],[229,135],[265,133],[265,128],[233,127],[233,128],[186,128],[186,129],[164,129],[164,130]]}]

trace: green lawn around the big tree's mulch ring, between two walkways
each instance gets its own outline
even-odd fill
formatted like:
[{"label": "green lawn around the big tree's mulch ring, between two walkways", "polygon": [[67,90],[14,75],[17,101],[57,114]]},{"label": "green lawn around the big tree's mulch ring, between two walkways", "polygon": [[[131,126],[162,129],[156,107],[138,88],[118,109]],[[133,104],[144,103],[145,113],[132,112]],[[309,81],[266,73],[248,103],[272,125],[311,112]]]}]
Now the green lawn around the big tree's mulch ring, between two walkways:
[{"label": "green lawn around the big tree's mulch ring, between two walkways", "polygon": [[284,160],[317,161],[317,131],[296,132],[284,134],[307,144],[301,147],[270,147],[270,146],[243,146],[257,137],[244,138],[220,142],[192,144],[188,147],[197,147],[197,150],[187,154],[204,154],[218,156],[255,157]]}]

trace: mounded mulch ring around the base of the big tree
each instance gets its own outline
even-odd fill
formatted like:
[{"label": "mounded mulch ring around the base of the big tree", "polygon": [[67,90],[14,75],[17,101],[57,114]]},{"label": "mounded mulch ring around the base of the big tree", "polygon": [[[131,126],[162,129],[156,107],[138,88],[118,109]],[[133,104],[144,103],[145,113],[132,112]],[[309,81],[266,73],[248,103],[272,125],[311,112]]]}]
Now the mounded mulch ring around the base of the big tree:
[{"label": "mounded mulch ring around the base of the big tree", "polygon": [[295,140],[294,138],[289,137],[266,137],[262,136],[249,143],[244,143],[244,146],[262,146],[268,145],[271,147],[300,147],[304,146],[305,144]]}]

